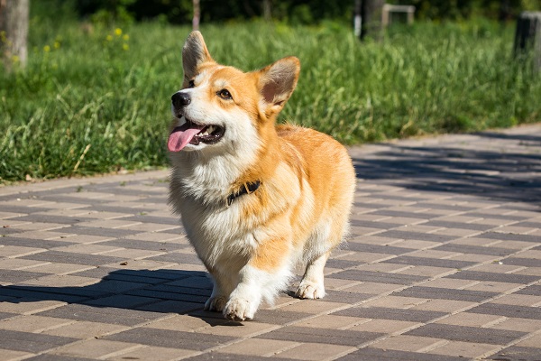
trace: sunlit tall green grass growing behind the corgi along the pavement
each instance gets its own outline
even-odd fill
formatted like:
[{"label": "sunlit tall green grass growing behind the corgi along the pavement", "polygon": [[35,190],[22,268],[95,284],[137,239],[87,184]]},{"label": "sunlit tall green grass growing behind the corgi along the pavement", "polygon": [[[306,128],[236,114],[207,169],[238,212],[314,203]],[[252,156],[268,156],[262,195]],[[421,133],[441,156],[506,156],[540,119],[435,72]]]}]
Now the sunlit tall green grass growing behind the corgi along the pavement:
[{"label": "sunlit tall green grass growing behind the corgi along the pavement", "polygon": [[[32,18],[26,70],[0,71],[0,182],[165,166],[188,32]],[[336,23],[202,32],[215,60],[244,70],[297,55],[298,88],[280,119],[343,143],[541,120],[541,76],[512,59],[513,26],[417,23],[381,44]]]}]

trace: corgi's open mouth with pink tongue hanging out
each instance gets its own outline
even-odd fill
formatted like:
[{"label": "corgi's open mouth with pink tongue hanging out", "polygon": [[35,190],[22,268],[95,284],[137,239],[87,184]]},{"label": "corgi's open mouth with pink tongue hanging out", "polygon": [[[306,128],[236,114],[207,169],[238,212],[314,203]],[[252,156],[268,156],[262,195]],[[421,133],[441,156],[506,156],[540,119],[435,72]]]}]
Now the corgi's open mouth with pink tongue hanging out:
[{"label": "corgi's open mouth with pink tongue hanging out", "polygon": [[167,147],[170,152],[180,152],[188,143],[214,144],[224,136],[225,129],[219,125],[198,125],[188,119],[170,134]]}]

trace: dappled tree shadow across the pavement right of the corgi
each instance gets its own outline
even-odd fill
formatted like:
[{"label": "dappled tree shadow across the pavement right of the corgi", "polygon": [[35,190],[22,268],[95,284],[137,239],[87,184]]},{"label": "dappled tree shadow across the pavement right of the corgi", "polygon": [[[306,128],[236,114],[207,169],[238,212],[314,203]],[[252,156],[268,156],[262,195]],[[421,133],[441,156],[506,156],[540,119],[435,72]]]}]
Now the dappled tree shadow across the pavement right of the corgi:
[{"label": "dappled tree shadow across the pavement right of the corgi", "polygon": [[[390,143],[362,159],[353,154],[353,164],[359,179],[378,184],[541,205],[541,136],[477,135],[484,143],[482,150]],[[507,141],[509,147],[502,146]],[[487,147],[487,142],[493,146]],[[528,152],[518,152],[513,144]]]}]

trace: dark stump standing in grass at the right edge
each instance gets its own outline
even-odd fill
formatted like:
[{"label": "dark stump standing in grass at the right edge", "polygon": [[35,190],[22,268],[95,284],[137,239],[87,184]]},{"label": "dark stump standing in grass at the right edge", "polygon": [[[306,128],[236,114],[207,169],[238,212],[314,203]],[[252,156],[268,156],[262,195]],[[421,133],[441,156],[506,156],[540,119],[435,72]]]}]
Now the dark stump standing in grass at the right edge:
[{"label": "dark stump standing in grass at the right edge", "polygon": [[534,62],[534,69],[541,70],[541,12],[523,12],[518,16],[515,32],[515,57]]}]

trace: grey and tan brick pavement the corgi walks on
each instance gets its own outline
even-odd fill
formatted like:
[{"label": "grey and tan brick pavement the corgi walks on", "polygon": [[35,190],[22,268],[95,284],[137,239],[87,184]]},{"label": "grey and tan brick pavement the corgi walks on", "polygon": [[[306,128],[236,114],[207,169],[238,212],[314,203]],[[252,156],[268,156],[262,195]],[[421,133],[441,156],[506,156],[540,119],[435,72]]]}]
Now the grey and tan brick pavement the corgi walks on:
[{"label": "grey and tan brick pavement the corgi walks on", "polygon": [[0,188],[0,360],[541,359],[541,125],[351,154],[328,296],[243,324],[202,310],[167,171]]}]

